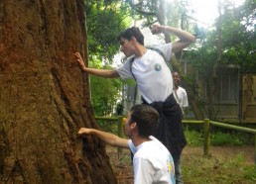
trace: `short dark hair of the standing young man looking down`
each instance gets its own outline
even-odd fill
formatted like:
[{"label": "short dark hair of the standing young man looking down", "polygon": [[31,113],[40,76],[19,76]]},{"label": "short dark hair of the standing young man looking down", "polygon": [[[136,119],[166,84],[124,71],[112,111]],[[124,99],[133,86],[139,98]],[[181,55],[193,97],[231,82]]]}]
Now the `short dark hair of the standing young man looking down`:
[{"label": "short dark hair of the standing young man looking down", "polygon": [[121,32],[117,37],[117,40],[120,41],[121,38],[124,38],[128,41],[131,41],[132,37],[134,37],[138,41],[138,43],[144,46],[144,36],[142,35],[140,29],[137,27],[131,27]]}]

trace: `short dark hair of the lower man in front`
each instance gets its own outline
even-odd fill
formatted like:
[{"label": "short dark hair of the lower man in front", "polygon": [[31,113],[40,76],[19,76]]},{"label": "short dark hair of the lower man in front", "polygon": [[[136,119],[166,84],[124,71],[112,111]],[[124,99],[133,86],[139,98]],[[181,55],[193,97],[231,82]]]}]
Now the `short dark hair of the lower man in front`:
[{"label": "short dark hair of the lower man in front", "polygon": [[159,113],[153,107],[145,104],[131,108],[129,124],[136,122],[140,137],[148,138],[155,134],[159,126]]}]

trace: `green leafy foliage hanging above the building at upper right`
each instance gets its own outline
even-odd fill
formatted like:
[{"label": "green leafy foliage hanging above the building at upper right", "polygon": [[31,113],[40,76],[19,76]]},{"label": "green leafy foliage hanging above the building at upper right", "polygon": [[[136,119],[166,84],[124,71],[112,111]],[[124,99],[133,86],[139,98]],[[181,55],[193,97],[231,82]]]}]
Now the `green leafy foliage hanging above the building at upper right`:
[{"label": "green leafy foliage hanging above the building at upper right", "polygon": [[[221,32],[211,30],[205,35],[205,30],[202,31],[205,37],[199,38],[198,47],[187,53],[193,67],[205,78],[217,61],[219,50],[221,57],[218,64],[239,64],[243,73],[256,73],[256,2],[247,0],[237,8],[227,2],[223,4],[223,15],[216,22],[220,23]],[[198,29],[195,31],[197,36],[201,34]],[[221,47],[216,45],[219,35]]]}]

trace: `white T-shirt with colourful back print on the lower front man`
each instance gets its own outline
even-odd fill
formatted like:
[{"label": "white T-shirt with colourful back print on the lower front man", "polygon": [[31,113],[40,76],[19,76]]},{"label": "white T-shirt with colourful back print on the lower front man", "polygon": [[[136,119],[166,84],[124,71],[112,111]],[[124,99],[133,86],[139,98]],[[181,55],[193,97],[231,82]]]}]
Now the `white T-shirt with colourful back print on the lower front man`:
[{"label": "white T-shirt with colourful back print on the lower front man", "polygon": [[134,153],[134,184],[175,184],[174,160],[166,146],[157,138],[149,137],[137,147],[128,140]]}]

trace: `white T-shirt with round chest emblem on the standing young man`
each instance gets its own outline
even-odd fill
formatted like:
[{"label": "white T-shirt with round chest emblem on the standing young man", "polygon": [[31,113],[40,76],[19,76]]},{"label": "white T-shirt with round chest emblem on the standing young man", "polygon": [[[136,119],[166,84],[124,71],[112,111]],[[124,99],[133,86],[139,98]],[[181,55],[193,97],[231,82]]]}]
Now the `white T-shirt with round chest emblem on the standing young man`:
[{"label": "white T-shirt with round chest emblem on the standing young man", "polygon": [[[158,46],[168,60],[172,55],[172,44]],[[130,59],[116,69],[122,79],[136,78],[143,98],[148,102],[165,101],[173,92],[173,77],[163,56],[148,49],[141,57],[135,57],[130,70]]]}]

